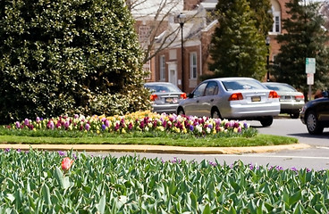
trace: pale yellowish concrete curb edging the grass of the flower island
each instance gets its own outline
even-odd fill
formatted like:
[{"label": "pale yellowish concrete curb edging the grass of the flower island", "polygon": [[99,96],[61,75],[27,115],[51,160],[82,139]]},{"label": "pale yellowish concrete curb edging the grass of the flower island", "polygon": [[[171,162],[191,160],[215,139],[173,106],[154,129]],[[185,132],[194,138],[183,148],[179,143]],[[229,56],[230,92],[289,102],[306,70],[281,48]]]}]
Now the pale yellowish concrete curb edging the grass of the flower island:
[{"label": "pale yellowish concrete curb edging the grass of the flower island", "polygon": [[0,149],[78,151],[78,152],[151,152],[185,154],[240,154],[299,150],[311,147],[308,144],[287,144],[250,147],[182,147],[140,144],[0,144]]}]

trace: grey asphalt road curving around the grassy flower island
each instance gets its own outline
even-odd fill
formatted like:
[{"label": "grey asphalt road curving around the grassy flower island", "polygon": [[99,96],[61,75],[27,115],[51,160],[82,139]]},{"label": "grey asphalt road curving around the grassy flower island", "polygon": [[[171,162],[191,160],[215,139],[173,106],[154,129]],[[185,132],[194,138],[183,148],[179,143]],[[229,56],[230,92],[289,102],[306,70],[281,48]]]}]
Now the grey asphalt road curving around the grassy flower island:
[{"label": "grey asphalt road curving around the grassy flower island", "polygon": [[[305,125],[299,119],[274,119],[271,127],[263,128],[257,121],[249,121],[258,132],[267,135],[292,136],[299,139],[299,143],[311,145],[308,149],[297,151],[281,151],[271,153],[244,153],[244,154],[159,154],[159,153],[130,153],[111,152],[116,157],[123,155],[139,155],[139,157],[159,158],[172,161],[175,158],[186,161],[217,161],[219,164],[232,164],[234,161],[243,161],[245,164],[268,167],[283,167],[283,169],[329,169],[329,128],[325,128],[322,136],[310,136]],[[98,153],[107,155],[108,153]]]}]

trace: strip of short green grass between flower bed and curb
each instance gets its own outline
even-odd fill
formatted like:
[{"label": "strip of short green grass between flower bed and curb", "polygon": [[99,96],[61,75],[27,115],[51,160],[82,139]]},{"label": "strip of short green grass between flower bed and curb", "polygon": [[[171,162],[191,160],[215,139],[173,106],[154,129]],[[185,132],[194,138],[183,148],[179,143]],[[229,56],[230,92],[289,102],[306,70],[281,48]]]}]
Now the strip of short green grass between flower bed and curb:
[{"label": "strip of short green grass between flower bed and curb", "polygon": [[174,146],[262,146],[279,144],[298,144],[298,139],[288,136],[257,134],[252,137],[150,137],[150,136],[0,136],[0,144],[151,144]]}]

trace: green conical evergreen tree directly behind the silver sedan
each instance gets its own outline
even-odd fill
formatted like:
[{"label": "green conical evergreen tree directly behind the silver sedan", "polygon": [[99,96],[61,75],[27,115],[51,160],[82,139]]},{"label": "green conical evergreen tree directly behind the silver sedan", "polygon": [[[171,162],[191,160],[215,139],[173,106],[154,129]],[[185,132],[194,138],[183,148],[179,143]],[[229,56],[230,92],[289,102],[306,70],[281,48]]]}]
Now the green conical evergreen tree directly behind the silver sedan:
[{"label": "green conical evergreen tree directly behind the silver sedan", "polygon": [[216,10],[219,26],[211,41],[209,69],[215,77],[263,78],[267,49],[256,12],[247,0],[219,1]]}]

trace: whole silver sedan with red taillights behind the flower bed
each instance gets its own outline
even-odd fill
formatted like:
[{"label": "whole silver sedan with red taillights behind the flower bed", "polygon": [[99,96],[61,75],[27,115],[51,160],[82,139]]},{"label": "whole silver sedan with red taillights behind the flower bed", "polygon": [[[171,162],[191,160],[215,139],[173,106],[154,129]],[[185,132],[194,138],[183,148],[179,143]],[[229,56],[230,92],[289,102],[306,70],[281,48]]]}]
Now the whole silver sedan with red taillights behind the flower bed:
[{"label": "whole silver sedan with red taillights behind the flower bed", "polygon": [[254,78],[207,79],[177,108],[177,114],[259,120],[263,127],[271,126],[279,113],[277,93]]}]

